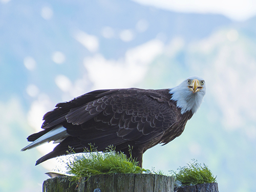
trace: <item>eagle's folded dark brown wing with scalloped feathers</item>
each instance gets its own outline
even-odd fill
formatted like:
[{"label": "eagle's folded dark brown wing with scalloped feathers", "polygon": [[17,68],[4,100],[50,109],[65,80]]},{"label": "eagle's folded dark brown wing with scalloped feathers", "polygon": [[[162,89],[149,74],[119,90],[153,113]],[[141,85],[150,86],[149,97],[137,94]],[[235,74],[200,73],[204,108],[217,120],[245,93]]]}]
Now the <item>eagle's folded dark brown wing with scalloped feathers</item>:
[{"label": "eagle's folded dark brown wing with scalloped feathers", "polygon": [[108,140],[115,145],[122,140],[147,142],[167,130],[176,117],[176,106],[162,94],[138,89],[98,95],[65,116],[74,125],[67,126],[67,132],[81,142]]}]

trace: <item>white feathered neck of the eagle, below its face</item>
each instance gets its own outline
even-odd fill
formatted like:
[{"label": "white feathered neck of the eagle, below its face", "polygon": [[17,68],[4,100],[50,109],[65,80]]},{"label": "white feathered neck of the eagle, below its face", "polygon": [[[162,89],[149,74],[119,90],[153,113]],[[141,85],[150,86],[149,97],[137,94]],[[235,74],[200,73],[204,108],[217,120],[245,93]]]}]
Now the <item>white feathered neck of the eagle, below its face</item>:
[{"label": "white feathered neck of the eagle, below its face", "polygon": [[204,94],[202,92],[193,93],[187,87],[177,86],[169,90],[171,100],[176,101],[177,106],[181,108],[181,114],[191,111],[192,114],[196,113],[199,109]]}]

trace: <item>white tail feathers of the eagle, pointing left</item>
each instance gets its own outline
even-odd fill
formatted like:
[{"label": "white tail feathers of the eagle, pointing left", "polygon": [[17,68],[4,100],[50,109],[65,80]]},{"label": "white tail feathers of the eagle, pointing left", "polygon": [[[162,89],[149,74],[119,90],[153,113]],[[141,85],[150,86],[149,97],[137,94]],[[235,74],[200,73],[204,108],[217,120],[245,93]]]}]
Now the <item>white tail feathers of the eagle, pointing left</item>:
[{"label": "white tail feathers of the eagle, pointing left", "polygon": [[34,148],[36,146],[39,146],[41,144],[54,141],[54,143],[60,143],[63,141],[65,138],[67,138],[69,134],[67,133],[67,129],[63,126],[55,127],[45,135],[42,135],[26,147],[22,149],[22,151],[29,150],[30,148]]}]

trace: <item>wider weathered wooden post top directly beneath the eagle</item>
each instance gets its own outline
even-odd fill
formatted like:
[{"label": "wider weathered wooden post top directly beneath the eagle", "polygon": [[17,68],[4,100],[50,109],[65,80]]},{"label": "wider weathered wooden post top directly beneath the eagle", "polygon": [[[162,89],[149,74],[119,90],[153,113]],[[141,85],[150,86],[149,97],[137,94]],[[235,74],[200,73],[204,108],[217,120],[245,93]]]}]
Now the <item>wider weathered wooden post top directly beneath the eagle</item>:
[{"label": "wider weathered wooden post top directly beneath the eagle", "polygon": [[174,178],[155,174],[112,174],[82,178],[79,182],[70,177],[47,179],[43,192],[174,192]]}]

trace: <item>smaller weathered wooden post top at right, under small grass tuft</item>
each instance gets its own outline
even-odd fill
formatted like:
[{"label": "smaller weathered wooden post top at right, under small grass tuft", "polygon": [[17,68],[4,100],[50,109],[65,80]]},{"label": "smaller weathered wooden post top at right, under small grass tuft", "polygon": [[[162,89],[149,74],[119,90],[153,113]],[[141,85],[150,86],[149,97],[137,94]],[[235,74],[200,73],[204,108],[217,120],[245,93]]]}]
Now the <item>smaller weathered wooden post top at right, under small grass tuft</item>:
[{"label": "smaller weathered wooden post top at right, under small grass tuft", "polygon": [[177,192],[219,192],[218,183],[205,183],[180,187]]}]

